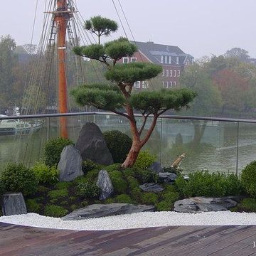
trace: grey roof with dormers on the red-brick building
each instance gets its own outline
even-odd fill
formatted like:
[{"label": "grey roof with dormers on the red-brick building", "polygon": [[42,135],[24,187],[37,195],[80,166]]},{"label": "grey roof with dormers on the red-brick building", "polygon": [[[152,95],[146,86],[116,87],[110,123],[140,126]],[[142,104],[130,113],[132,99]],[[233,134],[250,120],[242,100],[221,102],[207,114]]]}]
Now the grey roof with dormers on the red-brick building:
[{"label": "grey roof with dormers on the red-brick building", "polygon": [[161,45],[154,42],[138,42],[131,41],[134,43],[140,52],[142,52],[152,63],[164,64],[161,62],[161,56],[171,56],[171,65],[177,65],[176,57],[178,57],[178,65],[185,65],[188,57],[193,58],[193,56],[186,54],[178,48],[178,46],[167,46]]}]

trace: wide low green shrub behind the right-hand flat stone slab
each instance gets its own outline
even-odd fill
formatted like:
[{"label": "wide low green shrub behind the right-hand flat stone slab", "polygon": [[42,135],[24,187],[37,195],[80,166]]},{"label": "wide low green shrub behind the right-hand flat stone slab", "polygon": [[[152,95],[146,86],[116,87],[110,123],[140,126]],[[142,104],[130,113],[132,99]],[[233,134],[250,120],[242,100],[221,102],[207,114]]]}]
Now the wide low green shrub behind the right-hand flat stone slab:
[{"label": "wide low green shrub behind the right-hand flat stone slab", "polygon": [[181,176],[176,178],[176,186],[184,196],[240,196],[240,180],[223,173],[210,174],[208,171],[196,171],[188,174],[188,181]]}]

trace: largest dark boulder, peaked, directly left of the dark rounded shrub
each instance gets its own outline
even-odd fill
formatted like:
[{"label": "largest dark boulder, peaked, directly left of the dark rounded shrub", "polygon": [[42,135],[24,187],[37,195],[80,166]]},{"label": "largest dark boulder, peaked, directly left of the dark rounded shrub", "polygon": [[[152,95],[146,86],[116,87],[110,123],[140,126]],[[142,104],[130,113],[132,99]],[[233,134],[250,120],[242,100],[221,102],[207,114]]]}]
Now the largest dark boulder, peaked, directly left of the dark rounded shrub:
[{"label": "largest dark boulder, peaked, directly left of the dark rounded shrub", "polygon": [[97,164],[113,164],[112,154],[107,148],[100,128],[92,122],[87,122],[81,129],[75,148],[80,151],[82,160],[90,159]]}]

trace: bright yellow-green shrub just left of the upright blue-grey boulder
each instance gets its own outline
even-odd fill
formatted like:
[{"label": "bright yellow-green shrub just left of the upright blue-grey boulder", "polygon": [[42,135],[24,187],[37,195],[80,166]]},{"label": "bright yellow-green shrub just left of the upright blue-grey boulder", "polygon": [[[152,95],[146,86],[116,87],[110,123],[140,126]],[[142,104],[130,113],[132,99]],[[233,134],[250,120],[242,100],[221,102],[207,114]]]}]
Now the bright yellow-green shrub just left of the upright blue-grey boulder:
[{"label": "bright yellow-green shrub just left of the upright blue-grey boulder", "polygon": [[39,183],[53,185],[58,182],[59,171],[55,168],[55,165],[50,167],[43,164],[42,160],[36,161],[36,165],[32,167],[32,170],[35,172]]}]

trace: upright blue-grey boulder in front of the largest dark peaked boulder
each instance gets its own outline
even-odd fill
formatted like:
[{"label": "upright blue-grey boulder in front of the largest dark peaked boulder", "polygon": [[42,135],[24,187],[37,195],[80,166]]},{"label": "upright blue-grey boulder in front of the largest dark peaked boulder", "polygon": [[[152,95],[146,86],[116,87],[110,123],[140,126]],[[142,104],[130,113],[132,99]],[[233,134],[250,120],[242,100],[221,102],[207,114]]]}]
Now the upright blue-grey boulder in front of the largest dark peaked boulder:
[{"label": "upright blue-grey boulder in front of the largest dark peaked boulder", "polygon": [[83,176],[80,151],[73,145],[65,146],[60,154],[57,169],[60,171],[60,181],[73,181],[78,176]]}]

